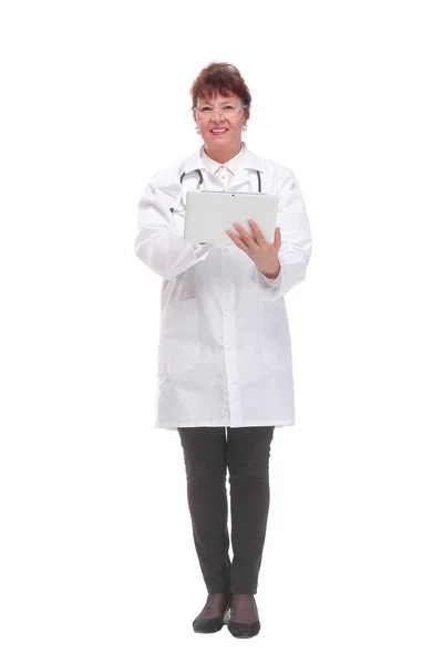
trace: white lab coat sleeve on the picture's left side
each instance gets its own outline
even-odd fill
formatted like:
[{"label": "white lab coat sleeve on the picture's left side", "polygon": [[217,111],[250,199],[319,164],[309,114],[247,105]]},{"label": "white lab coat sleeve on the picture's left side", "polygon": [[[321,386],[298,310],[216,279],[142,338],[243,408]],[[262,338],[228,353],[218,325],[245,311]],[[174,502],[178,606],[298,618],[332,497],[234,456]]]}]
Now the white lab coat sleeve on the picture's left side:
[{"label": "white lab coat sleeve on the picture's left side", "polygon": [[[177,186],[178,187],[178,186]],[[136,256],[165,280],[174,279],[200,260],[205,260],[212,245],[194,245],[183,237],[183,226],[175,222],[173,187],[147,185],[138,203]]]}]

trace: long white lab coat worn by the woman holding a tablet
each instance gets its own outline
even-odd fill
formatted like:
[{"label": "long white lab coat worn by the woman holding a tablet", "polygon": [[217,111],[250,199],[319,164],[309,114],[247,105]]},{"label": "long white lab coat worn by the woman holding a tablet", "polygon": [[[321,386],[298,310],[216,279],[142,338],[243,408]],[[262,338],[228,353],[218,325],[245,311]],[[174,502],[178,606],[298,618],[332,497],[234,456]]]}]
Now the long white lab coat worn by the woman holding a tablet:
[{"label": "long white lab coat worn by the woman holding a tablet", "polygon": [[[203,149],[203,148],[202,148]],[[311,236],[293,173],[258,157],[244,159],[228,187],[206,170],[202,149],[157,173],[138,204],[136,256],[163,279],[155,427],[291,426],[291,340],[285,294],[305,279]],[[184,239],[184,204],[196,188],[280,195],[280,273],[267,279],[234,242]],[[175,211],[171,212],[171,208]],[[210,224],[210,219],[208,219]]]}]

